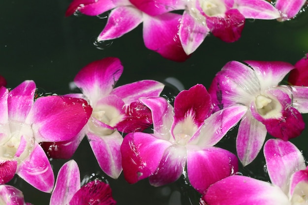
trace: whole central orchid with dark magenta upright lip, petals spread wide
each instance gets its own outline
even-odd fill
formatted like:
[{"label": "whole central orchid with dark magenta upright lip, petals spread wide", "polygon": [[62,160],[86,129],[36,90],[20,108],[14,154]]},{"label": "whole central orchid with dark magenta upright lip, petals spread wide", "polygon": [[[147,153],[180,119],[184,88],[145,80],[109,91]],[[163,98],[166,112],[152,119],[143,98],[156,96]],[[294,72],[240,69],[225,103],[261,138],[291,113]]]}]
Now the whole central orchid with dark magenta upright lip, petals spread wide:
[{"label": "whole central orchid with dark magenta upright lip, petals spread wide", "polygon": [[210,184],[237,171],[236,156],[214,145],[237,123],[245,106],[211,115],[211,97],[202,85],[181,91],[175,98],[174,112],[164,98],[141,101],[152,111],[154,134],[125,136],[122,166],[129,183],[146,177],[154,186],[171,183],[186,166],[191,185],[204,193]]}]

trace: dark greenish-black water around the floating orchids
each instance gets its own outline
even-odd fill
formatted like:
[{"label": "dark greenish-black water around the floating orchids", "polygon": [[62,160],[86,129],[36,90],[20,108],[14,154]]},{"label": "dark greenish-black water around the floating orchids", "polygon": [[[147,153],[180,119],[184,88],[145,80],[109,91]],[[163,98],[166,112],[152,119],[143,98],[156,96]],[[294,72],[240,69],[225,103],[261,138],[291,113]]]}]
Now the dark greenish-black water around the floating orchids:
[{"label": "dark greenish-black water around the floating orchids", "polygon": [[[106,18],[89,16],[64,17],[70,0],[4,0],[0,7],[0,74],[8,88],[24,80],[34,80],[45,92],[66,94],[68,84],[77,72],[93,60],[113,56],[121,59],[124,72],[117,86],[137,80],[163,81],[168,77],[178,79],[184,87],[199,83],[210,86],[213,77],[230,60],[280,60],[295,63],[308,53],[308,12],[297,19],[279,23],[247,20],[242,37],[235,43],[225,43],[207,36],[204,43],[184,63],[163,59],[147,50],[142,39],[142,25],[116,39],[112,45],[97,49],[94,41],[104,28]],[[106,42],[110,44],[111,42]],[[308,122],[308,115],[304,115]],[[232,133],[231,133],[232,135]],[[308,157],[307,130],[292,142]],[[221,146],[235,150],[232,136]],[[81,175],[91,175],[100,169],[87,141],[83,141],[73,157]],[[55,174],[65,160],[53,160]],[[241,171],[250,176],[267,179],[264,159],[258,160]],[[98,173],[103,176],[104,174]],[[152,187],[147,179],[130,185],[123,176],[109,179],[118,205],[180,205],[179,183]],[[181,182],[183,183],[183,182]],[[27,202],[34,205],[49,204],[49,194],[31,188],[15,177]],[[187,200],[182,202],[186,205]]]}]

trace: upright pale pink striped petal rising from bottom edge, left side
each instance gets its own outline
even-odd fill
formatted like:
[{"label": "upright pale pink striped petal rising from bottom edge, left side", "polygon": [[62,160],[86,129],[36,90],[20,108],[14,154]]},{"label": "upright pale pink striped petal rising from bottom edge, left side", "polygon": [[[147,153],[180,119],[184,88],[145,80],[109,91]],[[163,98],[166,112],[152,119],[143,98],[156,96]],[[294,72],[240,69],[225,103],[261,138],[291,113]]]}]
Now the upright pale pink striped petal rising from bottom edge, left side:
[{"label": "upright pale pink striped petal rising from bottom edge, left side", "polygon": [[50,205],[68,205],[73,195],[80,189],[80,173],[74,160],[66,162],[59,170]]}]

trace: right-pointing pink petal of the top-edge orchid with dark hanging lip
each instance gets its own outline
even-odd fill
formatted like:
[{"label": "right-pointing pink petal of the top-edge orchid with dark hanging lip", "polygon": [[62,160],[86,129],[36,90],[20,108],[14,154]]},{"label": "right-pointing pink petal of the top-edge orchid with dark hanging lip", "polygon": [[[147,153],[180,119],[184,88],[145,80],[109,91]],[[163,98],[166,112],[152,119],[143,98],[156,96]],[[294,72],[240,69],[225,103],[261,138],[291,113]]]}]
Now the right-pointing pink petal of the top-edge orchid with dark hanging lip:
[{"label": "right-pointing pink petal of the top-edge orchid with dark hanging lip", "polygon": [[237,9],[246,19],[277,19],[278,10],[265,0],[236,0]]}]

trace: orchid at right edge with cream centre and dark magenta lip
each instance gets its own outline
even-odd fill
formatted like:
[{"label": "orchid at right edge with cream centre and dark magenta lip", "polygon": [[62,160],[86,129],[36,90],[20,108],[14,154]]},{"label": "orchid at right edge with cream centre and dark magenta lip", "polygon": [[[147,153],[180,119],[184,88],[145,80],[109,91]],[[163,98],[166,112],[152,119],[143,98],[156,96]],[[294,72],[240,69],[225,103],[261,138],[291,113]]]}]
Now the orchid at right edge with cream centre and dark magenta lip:
[{"label": "orchid at right edge with cream centre and dark magenta lip", "polygon": [[228,62],[216,74],[209,93],[216,110],[246,106],[236,139],[244,166],[259,153],[267,132],[289,140],[305,127],[301,113],[308,113],[308,87],[278,86],[293,65],[280,62]]}]

